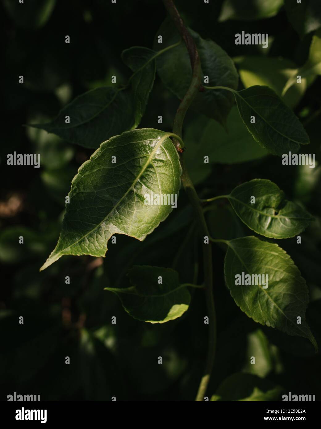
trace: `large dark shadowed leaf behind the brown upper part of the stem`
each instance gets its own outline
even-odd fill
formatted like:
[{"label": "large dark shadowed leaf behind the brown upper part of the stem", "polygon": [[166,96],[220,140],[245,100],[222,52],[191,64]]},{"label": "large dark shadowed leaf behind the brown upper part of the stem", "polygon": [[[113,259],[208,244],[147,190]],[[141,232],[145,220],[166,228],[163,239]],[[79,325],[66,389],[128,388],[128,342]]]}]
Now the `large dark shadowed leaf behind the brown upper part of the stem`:
[{"label": "large dark shadowed leaf behind the brown upper part of the stem", "polygon": [[[212,40],[204,40],[198,33],[189,29],[193,37],[203,71],[203,76],[209,77],[206,85],[222,85],[236,89],[238,85],[238,74],[233,61],[227,53]],[[157,36],[163,37],[163,44],[158,44]],[[154,42],[154,49],[159,50],[163,45],[172,45],[180,39],[170,19],[166,19],[160,26]],[[170,91],[179,99],[182,99],[192,78],[191,63],[185,44],[181,43],[176,48],[165,52],[156,60],[157,73],[160,79]],[[202,82],[204,79],[202,78]],[[223,83],[224,82],[224,83]],[[225,124],[228,112],[233,105],[233,97],[227,91],[200,92],[195,97],[191,107],[213,118],[221,124]]]}]

